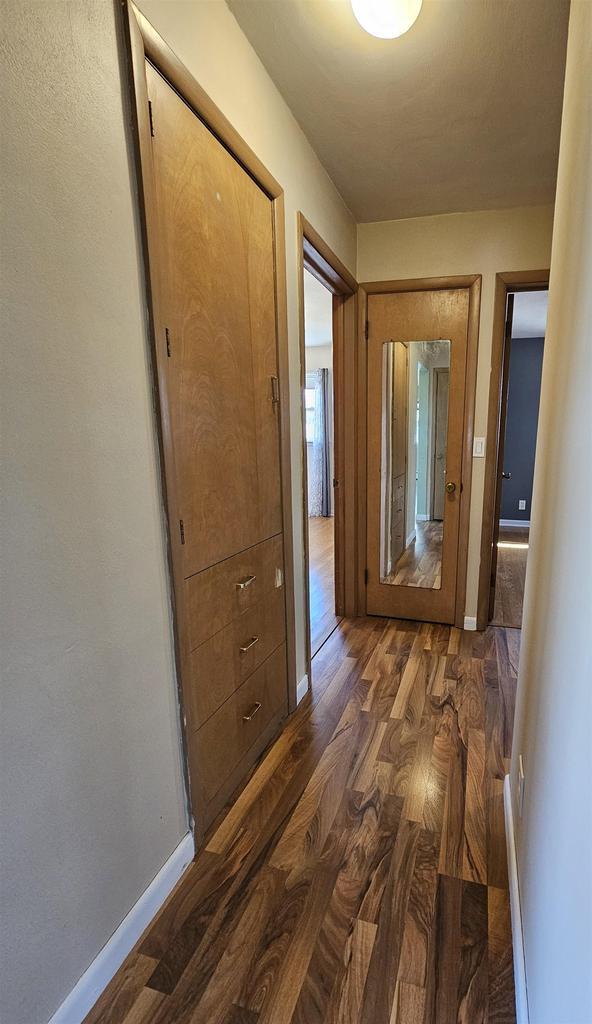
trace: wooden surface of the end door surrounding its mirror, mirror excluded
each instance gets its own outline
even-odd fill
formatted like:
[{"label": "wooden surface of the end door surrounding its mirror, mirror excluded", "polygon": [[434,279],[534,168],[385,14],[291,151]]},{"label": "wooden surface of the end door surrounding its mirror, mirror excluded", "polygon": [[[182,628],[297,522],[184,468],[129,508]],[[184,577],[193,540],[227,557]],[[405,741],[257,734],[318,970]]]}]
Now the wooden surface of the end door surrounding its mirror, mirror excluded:
[{"label": "wooden surface of the end door surrounding its mirror, mirror excluded", "polygon": [[[388,292],[368,296],[367,610],[369,614],[454,623],[468,316],[467,288]],[[386,341],[409,344],[414,341],[437,340],[448,340],[451,343],[447,480],[456,484],[454,494],[446,494],[445,498],[441,586],[439,589],[428,589],[381,583],[382,346]],[[397,349],[399,347],[403,348],[396,346]],[[399,537],[399,544],[400,541]],[[403,543],[405,546],[405,540]]]}]

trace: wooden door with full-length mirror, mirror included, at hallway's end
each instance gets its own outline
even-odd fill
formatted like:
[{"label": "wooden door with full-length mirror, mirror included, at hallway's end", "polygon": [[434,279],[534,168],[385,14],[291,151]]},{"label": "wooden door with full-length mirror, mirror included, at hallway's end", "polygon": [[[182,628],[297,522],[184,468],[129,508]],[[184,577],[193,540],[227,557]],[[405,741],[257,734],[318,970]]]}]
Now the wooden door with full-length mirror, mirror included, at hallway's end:
[{"label": "wooden door with full-length mirror, mirror included, at hallway's end", "polygon": [[368,296],[369,614],[455,622],[469,305]]}]

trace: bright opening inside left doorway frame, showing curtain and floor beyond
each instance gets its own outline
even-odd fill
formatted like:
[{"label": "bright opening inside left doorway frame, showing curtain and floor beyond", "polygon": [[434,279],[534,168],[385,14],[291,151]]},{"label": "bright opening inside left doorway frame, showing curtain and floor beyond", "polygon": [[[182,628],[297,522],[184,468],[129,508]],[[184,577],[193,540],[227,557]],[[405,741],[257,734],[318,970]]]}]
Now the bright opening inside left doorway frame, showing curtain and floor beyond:
[{"label": "bright opening inside left doorway frame, showing curtain and floor beyond", "polygon": [[333,296],[304,268],[308,614],[314,657],[341,622],[335,594]]}]

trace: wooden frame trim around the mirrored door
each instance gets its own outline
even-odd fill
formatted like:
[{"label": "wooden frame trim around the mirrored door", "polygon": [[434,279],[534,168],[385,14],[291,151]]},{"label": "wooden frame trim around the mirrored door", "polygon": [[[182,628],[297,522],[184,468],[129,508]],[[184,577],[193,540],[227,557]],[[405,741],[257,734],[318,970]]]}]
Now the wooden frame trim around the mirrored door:
[{"label": "wooden frame trim around the mirrored door", "polygon": [[479,312],[481,301],[480,273],[454,278],[418,278],[404,281],[371,281],[358,286],[360,359],[357,364],[357,608],[366,614],[366,531],[367,531],[367,338],[368,296],[391,292],[431,292],[466,288],[469,292],[467,329],[467,362],[465,373],[465,408],[463,413],[463,455],[459,511],[459,546],[457,560],[457,593],[455,626],[464,628],[467,590],[467,562],[471,507],[471,478],[473,460],[473,432],[475,419],[475,392],[477,382],[477,349],[479,340]]}]

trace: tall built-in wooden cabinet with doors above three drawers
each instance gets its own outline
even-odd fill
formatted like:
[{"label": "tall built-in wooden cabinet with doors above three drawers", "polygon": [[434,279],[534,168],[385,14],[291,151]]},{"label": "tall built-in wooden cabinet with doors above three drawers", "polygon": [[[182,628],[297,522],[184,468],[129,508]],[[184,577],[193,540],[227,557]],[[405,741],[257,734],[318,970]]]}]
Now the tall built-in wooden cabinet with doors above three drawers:
[{"label": "tall built-in wooden cabinet with doors above three drawers", "polygon": [[146,79],[182,705],[203,833],[288,708],[273,211],[151,65]]}]

